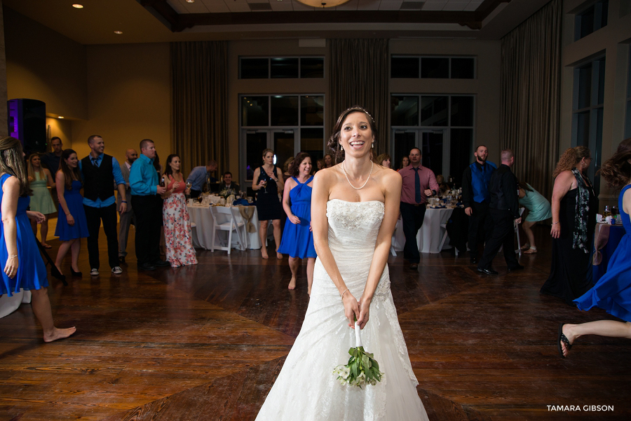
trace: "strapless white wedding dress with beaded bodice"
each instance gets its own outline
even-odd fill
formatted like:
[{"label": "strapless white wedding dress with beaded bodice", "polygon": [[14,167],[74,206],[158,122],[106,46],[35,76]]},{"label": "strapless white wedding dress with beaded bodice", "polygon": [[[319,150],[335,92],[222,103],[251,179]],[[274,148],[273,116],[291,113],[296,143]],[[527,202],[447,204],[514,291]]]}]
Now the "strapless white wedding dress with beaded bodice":
[{"label": "strapless white wedding dress with beaded bodice", "polygon": [[[329,200],[327,218],[329,247],[346,287],[359,299],[384,219],[384,204]],[[341,385],[333,369],[348,362],[355,333],[344,317],[339,291],[318,258],[302,328],[257,421],[428,420],[416,393],[418,382],[397,319],[387,265],[370,305],[362,343],[386,374],[376,386]]]}]

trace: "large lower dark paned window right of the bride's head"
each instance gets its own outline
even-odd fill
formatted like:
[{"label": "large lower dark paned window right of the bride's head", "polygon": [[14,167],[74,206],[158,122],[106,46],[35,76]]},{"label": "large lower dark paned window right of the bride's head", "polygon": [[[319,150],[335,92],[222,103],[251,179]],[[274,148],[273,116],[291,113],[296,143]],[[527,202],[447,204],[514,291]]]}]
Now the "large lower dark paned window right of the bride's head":
[{"label": "large lower dark paned window right of the bride's head", "polygon": [[419,148],[423,166],[459,184],[472,155],[473,95],[392,95],[392,156],[398,169]]}]

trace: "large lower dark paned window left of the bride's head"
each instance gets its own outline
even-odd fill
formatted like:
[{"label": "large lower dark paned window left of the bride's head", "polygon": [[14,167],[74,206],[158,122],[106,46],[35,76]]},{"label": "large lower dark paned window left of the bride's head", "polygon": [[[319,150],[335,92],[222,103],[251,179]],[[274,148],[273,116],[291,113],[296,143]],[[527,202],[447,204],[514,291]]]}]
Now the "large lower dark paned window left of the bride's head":
[{"label": "large lower dark paned window left of the bride's head", "polygon": [[283,169],[287,158],[298,152],[311,155],[311,162],[324,155],[324,103],[318,95],[242,95],[240,97],[240,179],[251,181],[262,165],[266,148],[276,153],[275,164]]}]

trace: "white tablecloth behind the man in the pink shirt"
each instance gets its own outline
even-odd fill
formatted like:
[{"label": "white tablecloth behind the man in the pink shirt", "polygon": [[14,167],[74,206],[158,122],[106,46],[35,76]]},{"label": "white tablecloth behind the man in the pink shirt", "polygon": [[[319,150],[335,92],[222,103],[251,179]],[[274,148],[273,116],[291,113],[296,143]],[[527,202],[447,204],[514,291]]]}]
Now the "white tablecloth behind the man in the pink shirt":
[{"label": "white tablecloth behind the man in the pink shirt", "polygon": [[[449,221],[449,216],[452,216],[452,212],[454,212],[454,209],[427,208],[425,219],[423,219],[423,226],[421,226],[419,232],[416,233],[416,244],[419,246],[421,253],[440,253],[440,242],[442,242],[442,237],[445,235],[445,228],[442,228],[440,225]],[[397,221],[397,226],[392,236],[392,246],[395,251],[402,251],[405,246],[402,219]],[[449,235],[447,235],[442,248],[451,248],[449,246]]]}]

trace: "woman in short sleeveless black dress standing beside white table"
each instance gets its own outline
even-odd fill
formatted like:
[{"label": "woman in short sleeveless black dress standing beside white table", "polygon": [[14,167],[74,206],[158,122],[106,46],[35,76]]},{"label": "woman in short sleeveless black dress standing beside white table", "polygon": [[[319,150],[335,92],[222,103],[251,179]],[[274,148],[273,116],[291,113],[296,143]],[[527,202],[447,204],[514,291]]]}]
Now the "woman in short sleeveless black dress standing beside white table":
[{"label": "woman in short sleeveless black dress standing beside white table", "polygon": [[252,177],[252,190],[257,193],[257,212],[259,213],[259,235],[261,236],[261,255],[268,258],[265,247],[267,226],[269,220],[274,228],[274,242],[276,242],[276,258],[283,258],[278,253],[280,245],[280,219],[283,217],[283,207],[280,205],[278,192],[283,191],[283,172],[274,165],[274,151],[264,149],[263,165],[255,170]]}]

